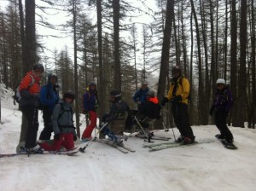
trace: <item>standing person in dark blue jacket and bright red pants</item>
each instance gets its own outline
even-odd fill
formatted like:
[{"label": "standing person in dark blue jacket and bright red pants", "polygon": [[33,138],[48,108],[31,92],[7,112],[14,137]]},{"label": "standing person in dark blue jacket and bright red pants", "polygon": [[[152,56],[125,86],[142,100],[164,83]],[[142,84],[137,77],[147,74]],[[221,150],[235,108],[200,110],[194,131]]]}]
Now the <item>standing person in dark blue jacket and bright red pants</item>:
[{"label": "standing person in dark blue jacket and bright red pants", "polygon": [[83,96],[84,114],[89,115],[90,124],[85,128],[82,141],[86,142],[91,139],[91,133],[96,127],[97,113],[96,107],[98,105],[98,96],[96,90],[96,83],[91,81],[88,90]]}]

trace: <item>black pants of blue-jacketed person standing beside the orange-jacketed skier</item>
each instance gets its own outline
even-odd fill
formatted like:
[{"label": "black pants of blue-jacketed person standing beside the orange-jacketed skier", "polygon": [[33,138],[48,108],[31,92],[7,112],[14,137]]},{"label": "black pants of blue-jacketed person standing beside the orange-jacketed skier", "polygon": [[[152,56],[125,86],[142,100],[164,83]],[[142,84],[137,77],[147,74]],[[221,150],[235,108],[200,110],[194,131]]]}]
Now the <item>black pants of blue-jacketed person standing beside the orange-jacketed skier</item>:
[{"label": "black pants of blue-jacketed person standing beside the orange-jacketed skier", "polygon": [[39,139],[40,140],[49,140],[51,133],[53,132],[51,125],[51,112],[48,108],[43,110],[43,119],[44,119],[44,130],[42,130]]}]

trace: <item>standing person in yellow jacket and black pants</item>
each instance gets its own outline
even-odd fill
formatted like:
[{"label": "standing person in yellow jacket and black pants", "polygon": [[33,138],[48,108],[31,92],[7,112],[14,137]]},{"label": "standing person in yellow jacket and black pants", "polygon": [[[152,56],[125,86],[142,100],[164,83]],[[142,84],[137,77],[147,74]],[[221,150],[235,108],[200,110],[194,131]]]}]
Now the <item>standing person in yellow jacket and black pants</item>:
[{"label": "standing person in yellow jacket and black pants", "polygon": [[181,134],[176,142],[181,142],[182,144],[195,142],[195,136],[189,124],[189,90],[189,80],[183,77],[181,68],[178,66],[173,67],[170,89],[168,95],[163,98],[161,105],[164,107],[166,102],[172,102],[174,123]]}]

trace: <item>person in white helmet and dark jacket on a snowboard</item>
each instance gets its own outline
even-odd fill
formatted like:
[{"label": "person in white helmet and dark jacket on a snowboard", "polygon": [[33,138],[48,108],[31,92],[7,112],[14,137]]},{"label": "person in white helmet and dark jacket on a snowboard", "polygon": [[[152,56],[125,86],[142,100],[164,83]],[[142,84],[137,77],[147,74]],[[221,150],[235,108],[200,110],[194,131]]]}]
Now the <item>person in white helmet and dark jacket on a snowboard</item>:
[{"label": "person in white helmet and dark jacket on a snowboard", "polygon": [[217,135],[218,139],[224,139],[225,142],[232,143],[234,138],[226,124],[226,119],[232,107],[233,97],[223,78],[218,78],[216,84],[217,91],[210,109],[210,115],[212,116],[213,112],[215,113],[215,124],[220,131],[220,135]]}]

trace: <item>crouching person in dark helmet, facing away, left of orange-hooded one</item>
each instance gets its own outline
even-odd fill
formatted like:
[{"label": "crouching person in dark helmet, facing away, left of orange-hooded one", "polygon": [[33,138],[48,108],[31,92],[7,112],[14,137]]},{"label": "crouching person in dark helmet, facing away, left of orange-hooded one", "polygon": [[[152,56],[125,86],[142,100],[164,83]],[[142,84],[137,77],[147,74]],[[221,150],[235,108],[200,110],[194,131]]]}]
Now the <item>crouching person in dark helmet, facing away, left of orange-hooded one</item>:
[{"label": "crouching person in dark helmet, facing away, left of orange-hooded one", "polygon": [[100,138],[107,135],[113,143],[122,145],[123,141],[120,136],[123,136],[125,119],[131,109],[125,101],[122,101],[119,90],[112,90],[110,92],[109,101],[112,102],[110,111],[102,118],[102,124],[108,122],[108,125],[101,130]]}]

